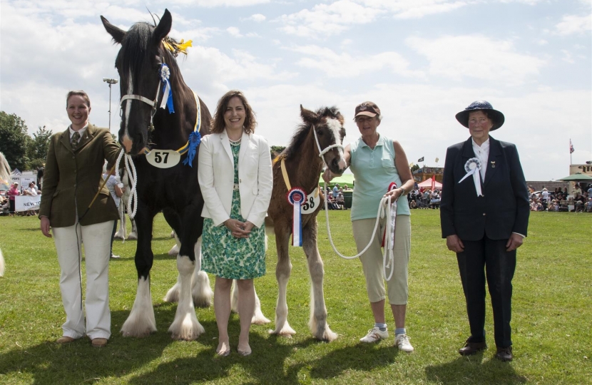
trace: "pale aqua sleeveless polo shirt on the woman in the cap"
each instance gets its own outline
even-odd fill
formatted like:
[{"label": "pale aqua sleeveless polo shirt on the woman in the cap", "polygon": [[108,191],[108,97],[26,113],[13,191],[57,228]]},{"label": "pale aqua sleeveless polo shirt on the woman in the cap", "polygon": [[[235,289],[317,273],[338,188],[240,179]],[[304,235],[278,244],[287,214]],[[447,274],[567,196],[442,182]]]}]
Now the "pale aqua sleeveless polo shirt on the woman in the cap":
[{"label": "pale aqua sleeveless polo shirt on the woman in the cap", "polygon": [[[376,218],[378,205],[391,182],[401,187],[401,178],[394,165],[392,140],[379,134],[374,149],[362,138],[350,145],[349,168],[354,173],[355,188],[352,201],[352,220]],[[411,215],[407,196],[397,200],[397,215]]]}]

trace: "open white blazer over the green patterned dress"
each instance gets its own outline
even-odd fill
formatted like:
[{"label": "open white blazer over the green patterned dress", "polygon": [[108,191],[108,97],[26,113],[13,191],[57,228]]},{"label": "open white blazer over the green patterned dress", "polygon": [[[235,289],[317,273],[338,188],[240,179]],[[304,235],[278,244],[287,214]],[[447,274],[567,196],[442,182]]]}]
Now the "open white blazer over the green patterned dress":
[{"label": "open white blazer over the green patterned dress", "polygon": [[[201,216],[215,226],[230,219],[233,202],[234,159],[226,130],[202,138],[198,180],[205,205]],[[270,146],[260,135],[243,132],[238,153],[240,215],[257,227],[265,221],[270,205],[273,175]]]}]

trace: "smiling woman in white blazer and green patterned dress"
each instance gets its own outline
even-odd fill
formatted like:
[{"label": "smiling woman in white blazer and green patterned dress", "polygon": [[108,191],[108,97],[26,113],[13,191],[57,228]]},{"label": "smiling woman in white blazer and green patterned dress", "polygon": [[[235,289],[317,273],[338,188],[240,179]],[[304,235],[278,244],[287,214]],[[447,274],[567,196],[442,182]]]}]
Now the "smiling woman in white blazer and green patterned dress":
[{"label": "smiling woman in white blazer and green patterned dress", "polygon": [[212,134],[199,149],[203,206],[202,269],[215,274],[214,311],[220,356],[230,354],[230,287],[238,285],[238,353],[251,354],[249,329],[255,309],[253,279],[265,275],[265,214],[273,177],[270,147],[255,135],[255,114],[243,93],[218,101]]}]

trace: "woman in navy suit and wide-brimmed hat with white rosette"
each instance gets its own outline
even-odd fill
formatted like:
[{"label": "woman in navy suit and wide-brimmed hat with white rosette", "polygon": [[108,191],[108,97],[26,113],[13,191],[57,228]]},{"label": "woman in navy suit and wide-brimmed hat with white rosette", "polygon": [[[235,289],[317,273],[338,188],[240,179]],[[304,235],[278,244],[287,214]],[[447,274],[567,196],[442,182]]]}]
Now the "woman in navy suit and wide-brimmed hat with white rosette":
[{"label": "woman in navy suit and wide-brimmed hat with white rosette", "polygon": [[446,151],[440,221],[446,246],[456,252],[471,337],[461,355],[486,349],[485,282],[494,312],[496,358],[511,361],[512,277],[516,248],[529,223],[529,195],[516,146],[489,136],[504,114],[475,101],[456,114],[471,138]]}]

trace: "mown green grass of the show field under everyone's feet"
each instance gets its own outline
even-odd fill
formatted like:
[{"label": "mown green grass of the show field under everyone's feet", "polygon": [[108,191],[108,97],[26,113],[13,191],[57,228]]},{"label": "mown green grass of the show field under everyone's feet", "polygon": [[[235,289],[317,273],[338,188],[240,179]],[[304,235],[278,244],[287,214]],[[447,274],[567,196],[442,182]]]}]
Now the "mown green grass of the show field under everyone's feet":
[{"label": "mown green grass of the show field under everyone's feet", "polygon": [[[349,212],[330,212],[340,251],[355,254]],[[173,242],[162,216],[155,220],[152,297],[158,332],[145,339],[118,333],[136,294],[136,242],[116,242],[121,260],[111,261],[113,336],[106,348],[88,339],[58,346],[64,320],[53,240],[34,217],[0,217],[0,247],[6,273],[0,278],[0,384],[592,384],[592,215],[532,212],[529,237],[518,252],[514,277],[514,361],[495,354],[491,307],[486,322],[489,349],[471,357],[456,352],[468,337],[456,258],[440,238],[439,212],[412,212],[407,333],[415,347],[399,353],[393,339],[359,344],[372,327],[359,261],[332,252],[320,215],[320,251],[325,260],[328,322],[339,338],[312,339],[307,328],[309,283],[302,250],[291,247],[288,320],[292,339],[267,334],[272,325],[253,326],[253,354],[215,356],[218,332],[213,308],[197,309],[205,334],[178,342],[166,332],[175,304],[161,299],[175,282]],[[262,311],[274,318],[274,239],[267,275],[255,280]],[[211,279],[212,277],[210,277]],[[389,327],[394,330],[392,318]],[[236,349],[238,316],[230,319]]]}]

